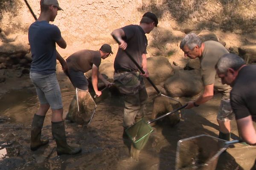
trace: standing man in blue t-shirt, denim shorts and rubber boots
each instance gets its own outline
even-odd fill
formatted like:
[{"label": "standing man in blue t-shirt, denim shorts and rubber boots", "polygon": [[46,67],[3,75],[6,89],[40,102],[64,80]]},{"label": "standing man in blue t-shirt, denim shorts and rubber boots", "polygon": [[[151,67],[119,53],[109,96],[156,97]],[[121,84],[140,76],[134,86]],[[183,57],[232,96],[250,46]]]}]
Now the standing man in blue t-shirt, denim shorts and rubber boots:
[{"label": "standing man in blue t-shirt, denim shorts and rubber boots", "polygon": [[80,147],[71,147],[67,144],[65,126],[62,119],[63,107],[61,102],[61,90],[56,79],[56,59],[67,69],[67,63],[56,51],[55,44],[66,48],[67,44],[61,37],[61,31],[55,25],[49,24],[57,16],[59,7],[57,0],[41,0],[41,13],[38,20],[29,27],[29,44],[32,53],[30,79],[40,101],[40,108],[35,113],[31,127],[31,150],[47,144],[49,140],[41,140],[41,129],[44,118],[51,107],[52,109],[52,135],[57,144],[57,154],[76,154]]}]

